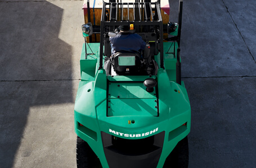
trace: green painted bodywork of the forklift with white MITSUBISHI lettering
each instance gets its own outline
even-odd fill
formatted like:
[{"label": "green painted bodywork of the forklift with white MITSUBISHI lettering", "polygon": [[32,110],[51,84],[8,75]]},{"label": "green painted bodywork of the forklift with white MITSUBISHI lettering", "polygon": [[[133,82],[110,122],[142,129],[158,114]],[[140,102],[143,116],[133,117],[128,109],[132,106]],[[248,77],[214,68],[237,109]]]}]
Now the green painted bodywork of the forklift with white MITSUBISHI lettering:
[{"label": "green painted bodywork of the forklift with white MITSUBISHI lettering", "polygon": [[[90,45],[97,53],[100,44]],[[164,43],[164,53],[169,46],[170,43]],[[170,48],[169,52],[173,49]],[[158,56],[155,55],[155,60],[160,64]],[[85,60],[82,53],[82,80],[74,110],[75,132],[91,146],[103,167],[109,166],[101,132],[127,139],[141,139],[164,132],[158,167],[163,167],[169,153],[190,132],[190,102],[184,83],[178,85],[175,82],[176,58],[171,54],[164,56],[165,69],[159,69],[157,76],[152,76],[157,79],[158,86],[149,93],[143,86],[143,81],[149,76],[106,76],[104,69],[97,70],[97,54]]]}]

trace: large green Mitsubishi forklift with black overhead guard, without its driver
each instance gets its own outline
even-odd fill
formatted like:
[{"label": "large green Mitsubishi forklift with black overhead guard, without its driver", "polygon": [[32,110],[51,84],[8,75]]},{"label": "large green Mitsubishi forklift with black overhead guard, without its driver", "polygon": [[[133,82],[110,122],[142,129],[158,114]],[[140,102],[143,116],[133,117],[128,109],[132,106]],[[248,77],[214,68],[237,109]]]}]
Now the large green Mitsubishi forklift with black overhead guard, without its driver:
[{"label": "large green Mitsubishi forklift with black overhead guard, without its driver", "polygon": [[[100,26],[82,26],[85,39],[100,34],[100,41],[85,41],[80,57],[77,167],[188,167],[191,108],[181,81],[182,5],[179,0],[178,23],[163,25],[160,0],[110,0],[103,2]],[[111,54],[109,38],[127,24],[146,42],[142,57]]]}]

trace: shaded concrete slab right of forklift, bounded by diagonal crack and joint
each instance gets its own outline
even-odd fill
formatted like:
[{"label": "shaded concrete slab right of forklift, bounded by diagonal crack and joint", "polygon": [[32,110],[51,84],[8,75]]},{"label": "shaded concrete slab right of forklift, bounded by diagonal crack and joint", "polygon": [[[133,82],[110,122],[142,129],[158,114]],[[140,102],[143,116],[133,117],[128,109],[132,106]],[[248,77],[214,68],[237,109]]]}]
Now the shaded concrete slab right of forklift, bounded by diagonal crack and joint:
[{"label": "shaded concrete slab right of forklift, bounded by diagonal crack and joint", "polygon": [[182,77],[255,75],[256,64],[242,39],[251,32],[240,35],[222,0],[186,1],[182,26]]}]

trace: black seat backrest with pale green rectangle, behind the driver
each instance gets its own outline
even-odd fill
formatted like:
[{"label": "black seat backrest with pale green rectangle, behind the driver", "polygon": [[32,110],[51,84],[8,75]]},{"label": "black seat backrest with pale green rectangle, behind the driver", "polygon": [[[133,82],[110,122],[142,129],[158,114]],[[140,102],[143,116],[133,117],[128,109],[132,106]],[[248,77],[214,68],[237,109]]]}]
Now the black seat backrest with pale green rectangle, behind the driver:
[{"label": "black seat backrest with pale green rectangle, behind the driver", "polygon": [[118,73],[133,73],[140,71],[140,54],[136,52],[118,52],[114,54],[114,69]]}]

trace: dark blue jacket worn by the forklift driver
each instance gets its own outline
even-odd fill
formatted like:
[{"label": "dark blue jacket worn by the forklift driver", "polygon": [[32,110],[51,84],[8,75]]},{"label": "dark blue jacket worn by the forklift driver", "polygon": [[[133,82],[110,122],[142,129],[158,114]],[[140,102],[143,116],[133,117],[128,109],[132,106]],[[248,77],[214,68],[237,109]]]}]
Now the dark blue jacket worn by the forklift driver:
[{"label": "dark blue jacket worn by the forklift driver", "polygon": [[114,38],[109,39],[112,46],[112,53],[116,52],[139,52],[146,47],[145,41],[138,34],[119,32]]}]

